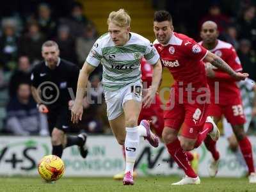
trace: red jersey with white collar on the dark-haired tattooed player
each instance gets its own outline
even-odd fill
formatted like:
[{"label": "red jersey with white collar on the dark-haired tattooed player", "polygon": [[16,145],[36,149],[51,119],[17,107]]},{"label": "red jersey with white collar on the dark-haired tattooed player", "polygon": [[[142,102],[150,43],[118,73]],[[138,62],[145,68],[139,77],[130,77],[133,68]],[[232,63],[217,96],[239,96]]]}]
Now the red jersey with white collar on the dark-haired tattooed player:
[{"label": "red jersey with white collar on the dark-haired tattooed player", "polygon": [[[195,88],[207,87],[204,60],[207,49],[197,44],[193,38],[180,33],[173,33],[167,45],[157,40],[154,46],[160,55],[161,63],[167,67],[175,80],[175,86],[186,88],[189,83]],[[186,92],[186,90],[184,90]]]}]

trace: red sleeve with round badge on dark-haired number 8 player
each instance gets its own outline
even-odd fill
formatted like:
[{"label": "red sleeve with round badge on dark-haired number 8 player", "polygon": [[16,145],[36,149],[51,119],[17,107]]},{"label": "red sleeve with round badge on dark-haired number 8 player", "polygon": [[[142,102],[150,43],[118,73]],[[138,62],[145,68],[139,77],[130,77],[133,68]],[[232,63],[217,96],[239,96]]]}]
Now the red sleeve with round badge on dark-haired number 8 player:
[{"label": "red sleeve with round badge on dark-haired number 8 player", "polygon": [[186,56],[189,56],[192,60],[195,61],[204,60],[207,54],[207,49],[202,47],[202,45],[197,44],[192,38],[182,42],[182,49]]}]

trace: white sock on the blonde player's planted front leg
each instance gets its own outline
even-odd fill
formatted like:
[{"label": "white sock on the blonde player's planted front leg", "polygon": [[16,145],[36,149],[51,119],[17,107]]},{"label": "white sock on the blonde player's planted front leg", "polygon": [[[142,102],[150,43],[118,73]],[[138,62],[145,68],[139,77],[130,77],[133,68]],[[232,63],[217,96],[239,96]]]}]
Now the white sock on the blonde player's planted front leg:
[{"label": "white sock on the blonde player's planted front leg", "polygon": [[126,127],[125,137],[125,173],[133,173],[136,154],[140,143],[138,127]]}]

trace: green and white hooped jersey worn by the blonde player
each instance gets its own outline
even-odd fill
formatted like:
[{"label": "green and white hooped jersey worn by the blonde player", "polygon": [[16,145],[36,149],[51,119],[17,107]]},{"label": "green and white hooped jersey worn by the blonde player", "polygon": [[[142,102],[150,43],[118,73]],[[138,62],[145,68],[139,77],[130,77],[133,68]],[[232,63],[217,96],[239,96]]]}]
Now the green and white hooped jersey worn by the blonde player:
[{"label": "green and white hooped jersey worn by the blonde player", "polygon": [[150,65],[159,60],[159,54],[147,38],[136,33],[130,35],[129,41],[123,46],[116,46],[109,33],[100,36],[86,58],[86,62],[93,67],[102,63],[102,84],[105,90],[116,91],[140,81],[140,60],[143,56]]}]

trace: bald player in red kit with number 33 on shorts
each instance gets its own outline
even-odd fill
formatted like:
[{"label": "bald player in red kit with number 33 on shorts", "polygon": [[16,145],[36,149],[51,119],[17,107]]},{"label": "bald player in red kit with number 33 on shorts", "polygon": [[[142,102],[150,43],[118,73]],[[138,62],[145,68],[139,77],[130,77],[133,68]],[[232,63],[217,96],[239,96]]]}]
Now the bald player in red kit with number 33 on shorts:
[{"label": "bald player in red kit with number 33 on shorts", "polygon": [[[215,22],[204,22],[204,24],[202,24],[200,35],[202,37],[202,42],[199,43],[200,45],[220,56],[220,58],[226,61],[236,72],[241,72],[243,70],[234,47],[227,42],[218,40],[218,26]],[[252,145],[244,132],[244,123],[246,120],[243,113],[240,90],[236,84],[237,79],[222,70],[215,68],[211,63],[206,63],[205,65],[207,82],[211,89],[211,95],[215,95],[215,87],[219,87],[218,103],[214,102],[214,97],[211,97],[208,115],[213,116],[216,124],[221,120],[221,116],[224,115],[227,118],[227,121],[232,125],[233,132],[248,166],[249,182],[256,183]],[[205,146],[212,153],[213,161],[209,166],[209,174],[214,177],[218,172],[220,157],[218,152],[216,152],[215,143],[210,140],[210,138],[205,140]],[[211,147],[209,147],[209,142],[212,143]],[[212,147],[213,145],[214,147]]]}]

